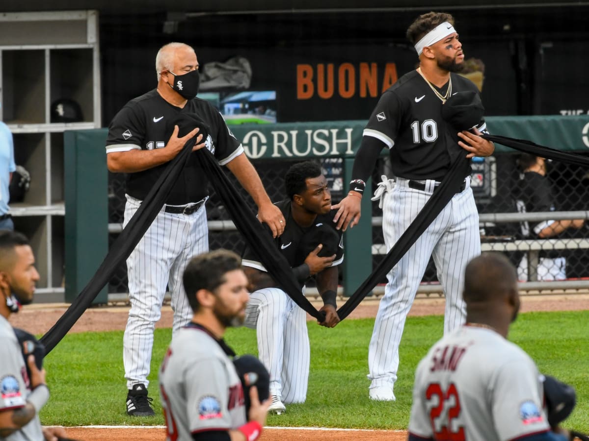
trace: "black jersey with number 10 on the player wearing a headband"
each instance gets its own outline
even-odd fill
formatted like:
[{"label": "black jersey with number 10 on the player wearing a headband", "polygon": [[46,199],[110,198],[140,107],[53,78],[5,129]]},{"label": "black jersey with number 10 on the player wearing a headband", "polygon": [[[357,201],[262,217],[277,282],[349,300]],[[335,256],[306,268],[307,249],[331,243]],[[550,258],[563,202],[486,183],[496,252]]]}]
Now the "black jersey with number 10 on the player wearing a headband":
[{"label": "black jersey with number 10 on the player wearing a headband", "polygon": [[[452,93],[479,93],[469,79],[457,74],[450,74],[450,78]],[[438,91],[444,95],[447,88],[445,85]],[[477,128],[486,132],[484,119]],[[382,94],[363,136],[373,136],[389,147],[395,176],[441,181],[451,160],[467,154],[457,143],[457,132],[442,118],[441,99],[419,72],[411,71]],[[464,177],[470,175],[467,161],[461,173]]]}]

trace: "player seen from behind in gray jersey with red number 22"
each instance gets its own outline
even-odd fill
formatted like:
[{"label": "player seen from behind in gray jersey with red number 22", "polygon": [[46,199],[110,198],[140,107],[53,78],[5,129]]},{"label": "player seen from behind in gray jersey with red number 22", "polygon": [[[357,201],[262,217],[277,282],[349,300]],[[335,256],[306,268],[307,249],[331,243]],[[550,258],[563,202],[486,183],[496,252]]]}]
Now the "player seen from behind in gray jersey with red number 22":
[{"label": "player seen from behind in gray jersey with red number 22", "polygon": [[514,266],[499,253],[473,259],[464,301],[466,324],[416,369],[409,440],[568,440],[550,430],[534,361],[507,340],[519,310]]}]

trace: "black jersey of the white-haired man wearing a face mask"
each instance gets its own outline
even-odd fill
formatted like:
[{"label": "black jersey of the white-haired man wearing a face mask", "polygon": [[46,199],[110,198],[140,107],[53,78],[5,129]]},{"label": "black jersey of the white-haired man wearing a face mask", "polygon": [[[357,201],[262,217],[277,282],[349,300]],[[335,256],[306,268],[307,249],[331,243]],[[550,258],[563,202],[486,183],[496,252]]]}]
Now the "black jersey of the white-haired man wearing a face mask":
[{"label": "black jersey of the white-haired man wearing a face mask", "polygon": [[[108,127],[107,153],[163,148],[174,130],[171,122],[183,112],[196,113],[207,123],[206,147],[221,165],[243,153],[241,143],[209,102],[194,98],[188,100],[184,108],[179,108],[163,99],[156,89],[132,99],[115,115]],[[127,193],[143,201],[166,166],[162,164],[142,172],[127,173]],[[166,203],[184,205],[201,201],[208,194],[206,175],[192,154]]]}]

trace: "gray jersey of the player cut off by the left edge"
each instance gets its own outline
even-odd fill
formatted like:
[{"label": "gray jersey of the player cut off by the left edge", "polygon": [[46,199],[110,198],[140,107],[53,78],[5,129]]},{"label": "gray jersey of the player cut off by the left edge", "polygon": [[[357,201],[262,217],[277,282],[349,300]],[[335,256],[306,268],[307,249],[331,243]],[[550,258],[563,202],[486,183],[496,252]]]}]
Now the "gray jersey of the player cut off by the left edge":
[{"label": "gray jersey of the player cut off by the left edge", "polygon": [[[29,377],[22,358],[21,349],[14,329],[4,317],[0,316],[0,411],[19,409],[27,404],[31,394]],[[6,441],[44,440],[39,416],[35,417],[21,430],[12,433]]]}]

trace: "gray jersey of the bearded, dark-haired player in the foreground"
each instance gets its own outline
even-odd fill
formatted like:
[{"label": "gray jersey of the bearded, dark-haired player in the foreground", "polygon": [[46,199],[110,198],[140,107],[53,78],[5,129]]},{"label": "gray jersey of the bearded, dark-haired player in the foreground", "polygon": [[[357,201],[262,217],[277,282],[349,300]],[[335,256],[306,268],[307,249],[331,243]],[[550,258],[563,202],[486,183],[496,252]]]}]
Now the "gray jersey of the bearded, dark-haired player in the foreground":
[{"label": "gray jersey of the bearded, dark-haired player in the foreground", "polygon": [[167,440],[233,430],[247,422],[243,388],[233,362],[207,332],[178,331],[159,372]]}]

